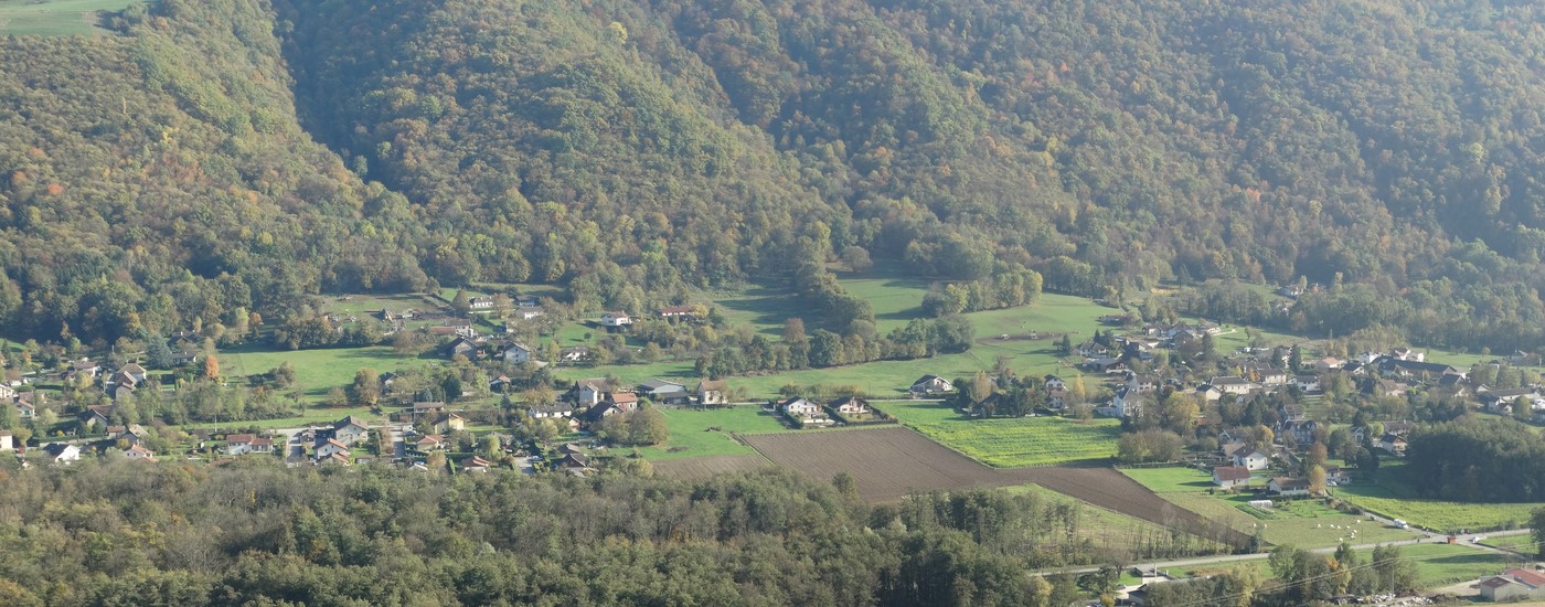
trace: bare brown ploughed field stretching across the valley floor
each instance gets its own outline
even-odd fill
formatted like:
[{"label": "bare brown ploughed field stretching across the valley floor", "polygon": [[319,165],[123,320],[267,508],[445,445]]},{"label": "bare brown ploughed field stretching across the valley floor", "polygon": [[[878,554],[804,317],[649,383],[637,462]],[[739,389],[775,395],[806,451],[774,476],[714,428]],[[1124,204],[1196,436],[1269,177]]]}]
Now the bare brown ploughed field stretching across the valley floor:
[{"label": "bare brown ploughed field stretching across the valley floor", "polygon": [[853,474],[859,494],[871,502],[898,502],[908,493],[1037,483],[1102,508],[1166,528],[1245,545],[1250,537],[1213,524],[1159,497],[1146,487],[1109,468],[987,468],[918,432],[890,426],[828,432],[745,436],[766,459],[797,470],[817,482],[837,473]]}]

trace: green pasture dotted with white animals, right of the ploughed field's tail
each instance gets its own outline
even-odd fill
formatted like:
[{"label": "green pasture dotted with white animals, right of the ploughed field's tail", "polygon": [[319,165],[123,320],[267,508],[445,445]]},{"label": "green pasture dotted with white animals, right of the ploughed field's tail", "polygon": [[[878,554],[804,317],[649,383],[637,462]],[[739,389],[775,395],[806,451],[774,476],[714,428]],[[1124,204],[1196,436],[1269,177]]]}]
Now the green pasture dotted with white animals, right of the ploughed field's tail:
[{"label": "green pasture dotted with white animals, right of the ploughed field's tail", "polygon": [[[1364,516],[1332,510],[1321,500],[1278,500],[1270,510],[1250,508],[1248,502],[1255,496],[1208,494],[1207,490],[1214,487],[1211,476],[1193,468],[1129,468],[1122,473],[1177,507],[1245,533],[1261,530],[1270,544],[1321,548],[1338,545],[1343,539],[1374,544],[1417,537],[1415,533],[1384,527]],[[1352,539],[1352,530],[1357,530],[1357,539]]]}]

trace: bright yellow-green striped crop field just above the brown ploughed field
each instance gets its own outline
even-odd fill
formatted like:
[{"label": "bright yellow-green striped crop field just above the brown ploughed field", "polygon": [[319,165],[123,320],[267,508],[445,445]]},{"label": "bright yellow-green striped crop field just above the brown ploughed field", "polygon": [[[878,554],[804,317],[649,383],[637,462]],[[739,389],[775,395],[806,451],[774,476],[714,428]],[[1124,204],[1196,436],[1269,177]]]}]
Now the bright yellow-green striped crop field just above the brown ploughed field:
[{"label": "bright yellow-green striped crop field just above the brown ploughed field", "polygon": [[1115,454],[1115,439],[1120,436],[1115,420],[975,420],[933,402],[887,402],[874,406],[929,439],[997,468],[1105,460]]}]

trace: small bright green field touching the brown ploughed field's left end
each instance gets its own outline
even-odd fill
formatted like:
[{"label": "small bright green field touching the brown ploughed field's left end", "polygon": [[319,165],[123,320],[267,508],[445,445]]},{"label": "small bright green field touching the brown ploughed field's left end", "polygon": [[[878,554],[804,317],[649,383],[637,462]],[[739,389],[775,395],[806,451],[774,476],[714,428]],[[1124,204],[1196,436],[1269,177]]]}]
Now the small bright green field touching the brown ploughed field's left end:
[{"label": "small bright green field touching the brown ploughed field's left end", "polygon": [[[732,406],[726,409],[661,408],[671,437],[664,445],[640,448],[646,459],[677,459],[706,456],[748,456],[757,451],[742,445],[731,432],[782,432],[788,431],[777,417],[763,412],[760,406]],[[717,428],[717,429],[709,429]]]}]

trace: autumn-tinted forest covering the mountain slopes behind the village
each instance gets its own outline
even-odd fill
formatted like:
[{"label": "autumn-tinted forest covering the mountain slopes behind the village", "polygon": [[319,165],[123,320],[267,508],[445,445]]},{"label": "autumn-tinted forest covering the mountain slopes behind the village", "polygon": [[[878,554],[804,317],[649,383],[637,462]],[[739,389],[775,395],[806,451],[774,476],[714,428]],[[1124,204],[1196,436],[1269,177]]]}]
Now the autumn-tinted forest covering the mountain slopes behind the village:
[{"label": "autumn-tinted forest covering the mountain slopes behind the village", "polygon": [[1537,346],[1537,11],[141,5],[0,42],[0,317],[111,341],[473,281],[601,309],[856,247],[1091,295],[1306,276],[1344,289],[1270,321]]}]

